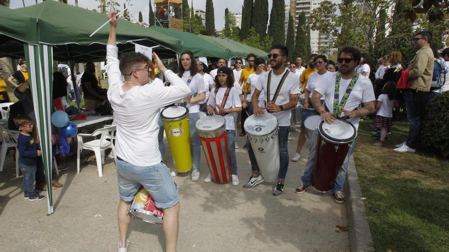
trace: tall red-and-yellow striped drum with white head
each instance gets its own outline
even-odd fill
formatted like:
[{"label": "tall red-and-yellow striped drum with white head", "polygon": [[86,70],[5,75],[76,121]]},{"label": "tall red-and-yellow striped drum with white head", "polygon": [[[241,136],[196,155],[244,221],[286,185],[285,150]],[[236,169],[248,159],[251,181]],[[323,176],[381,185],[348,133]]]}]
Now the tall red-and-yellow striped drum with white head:
[{"label": "tall red-and-yellow striped drum with white head", "polygon": [[195,126],[212,180],[219,184],[228,183],[231,181],[231,163],[229,162],[224,117],[212,115],[201,118]]}]

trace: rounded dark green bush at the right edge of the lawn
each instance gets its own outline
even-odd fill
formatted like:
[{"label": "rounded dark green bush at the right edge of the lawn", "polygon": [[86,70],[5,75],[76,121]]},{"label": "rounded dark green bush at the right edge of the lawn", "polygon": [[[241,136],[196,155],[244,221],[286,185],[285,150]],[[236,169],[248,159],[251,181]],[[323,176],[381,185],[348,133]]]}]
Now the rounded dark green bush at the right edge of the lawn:
[{"label": "rounded dark green bush at the right edge of the lawn", "polygon": [[426,107],[421,125],[421,142],[437,154],[449,158],[449,92],[435,97]]}]

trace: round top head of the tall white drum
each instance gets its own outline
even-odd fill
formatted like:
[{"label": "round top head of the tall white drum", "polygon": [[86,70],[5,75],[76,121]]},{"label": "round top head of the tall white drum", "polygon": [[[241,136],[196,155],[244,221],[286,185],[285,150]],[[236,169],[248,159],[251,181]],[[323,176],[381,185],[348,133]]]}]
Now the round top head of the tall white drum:
[{"label": "round top head of the tall white drum", "polygon": [[246,133],[252,135],[265,135],[278,127],[278,119],[266,113],[260,116],[252,115],[245,120],[244,128]]}]

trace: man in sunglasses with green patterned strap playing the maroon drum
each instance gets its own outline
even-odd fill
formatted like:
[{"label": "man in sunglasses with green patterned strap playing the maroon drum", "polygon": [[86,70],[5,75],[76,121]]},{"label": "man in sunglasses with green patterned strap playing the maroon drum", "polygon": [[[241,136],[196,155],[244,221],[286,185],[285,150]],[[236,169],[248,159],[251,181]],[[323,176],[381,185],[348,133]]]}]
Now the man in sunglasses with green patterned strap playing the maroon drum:
[{"label": "man in sunglasses with green patterned strap playing the maroon drum", "polygon": [[[317,83],[317,87],[312,95],[312,105],[321,115],[323,121],[333,123],[336,118],[346,118],[352,123],[356,130],[359,127],[360,117],[368,116],[375,111],[374,90],[371,80],[361,74],[357,74],[355,69],[360,62],[360,51],[354,47],[344,47],[338,53],[339,73],[331,73],[332,78],[327,81]],[[337,94],[336,91],[338,91]],[[321,97],[325,97],[326,108],[321,104]],[[334,105],[334,104],[337,105]],[[361,104],[362,108],[358,108]],[[332,111],[328,112],[328,111]],[[313,164],[315,162],[316,142],[318,129],[315,129],[310,140],[309,156],[306,163],[304,175],[301,177],[301,184],[295,189],[296,193],[303,193],[311,185]],[[332,193],[337,203],[344,202],[343,184],[346,180],[347,166],[354,152],[355,143],[351,145],[350,151],[344,159],[343,165],[334,181]]]}]

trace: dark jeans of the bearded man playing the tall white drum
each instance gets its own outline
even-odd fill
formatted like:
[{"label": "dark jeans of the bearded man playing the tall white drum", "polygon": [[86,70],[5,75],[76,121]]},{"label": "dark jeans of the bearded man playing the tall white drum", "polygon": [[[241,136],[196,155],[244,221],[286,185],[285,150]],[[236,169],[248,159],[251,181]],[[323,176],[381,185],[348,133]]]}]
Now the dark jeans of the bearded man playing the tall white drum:
[{"label": "dark jeans of the bearded man playing the tall white drum", "polygon": [[[279,139],[279,155],[281,167],[278,173],[278,180],[284,181],[288,171],[288,133],[290,132],[290,126],[279,126],[278,139]],[[249,140],[247,143],[250,143]],[[250,155],[251,171],[253,173],[259,173],[259,165],[257,164],[256,156],[254,155],[253,148],[248,149],[248,155]]]}]

